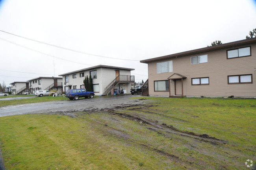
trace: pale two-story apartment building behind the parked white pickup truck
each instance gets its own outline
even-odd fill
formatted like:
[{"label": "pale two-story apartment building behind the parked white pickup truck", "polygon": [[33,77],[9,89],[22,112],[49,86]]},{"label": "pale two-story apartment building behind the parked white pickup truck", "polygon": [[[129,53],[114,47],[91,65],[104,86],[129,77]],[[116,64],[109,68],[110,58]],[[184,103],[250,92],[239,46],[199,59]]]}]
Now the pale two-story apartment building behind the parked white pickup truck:
[{"label": "pale two-story apartment building behind the parked white pickup truck", "polygon": [[55,90],[62,93],[62,78],[59,77],[38,77],[28,82],[31,94],[37,90]]}]

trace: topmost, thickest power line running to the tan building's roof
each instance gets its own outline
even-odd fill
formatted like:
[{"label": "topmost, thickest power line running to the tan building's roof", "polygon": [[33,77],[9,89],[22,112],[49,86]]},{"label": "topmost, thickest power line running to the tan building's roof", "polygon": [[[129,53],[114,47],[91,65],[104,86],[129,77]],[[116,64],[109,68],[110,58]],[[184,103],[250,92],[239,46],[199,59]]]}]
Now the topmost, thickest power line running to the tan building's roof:
[{"label": "topmost, thickest power line running to the tan building's roof", "polygon": [[[2,30],[0,30],[0,31],[2,31]],[[24,39],[28,39],[28,40],[31,40],[31,41],[39,42],[39,43],[42,43],[42,44],[46,44],[46,45],[50,45],[50,46],[54,46],[54,47],[61,48],[61,49],[64,49],[64,50],[69,50],[69,51],[78,52],[78,53],[82,53],[82,54],[94,55],[94,56],[97,56],[97,57],[104,57],[104,58],[109,58],[109,59],[119,59],[119,60],[126,60],[126,61],[139,61],[139,60],[132,60],[132,59],[120,59],[120,58],[114,58],[114,57],[106,57],[106,56],[104,56],[104,55],[96,55],[96,54],[81,52],[81,51],[77,51],[77,50],[72,50],[72,49],[70,49],[70,48],[65,48],[65,47],[61,47],[61,46],[56,46],[56,45],[49,44],[49,43],[46,43],[46,42],[37,41],[37,40],[34,40],[34,39],[22,37],[22,36],[20,36],[20,35],[16,35],[16,34],[13,34],[13,33],[9,33],[9,32],[6,32],[6,31],[2,31],[2,32],[8,33],[8,34],[11,34],[11,35],[15,35],[15,36],[17,36],[17,37],[21,37],[21,38],[24,38]]]}]

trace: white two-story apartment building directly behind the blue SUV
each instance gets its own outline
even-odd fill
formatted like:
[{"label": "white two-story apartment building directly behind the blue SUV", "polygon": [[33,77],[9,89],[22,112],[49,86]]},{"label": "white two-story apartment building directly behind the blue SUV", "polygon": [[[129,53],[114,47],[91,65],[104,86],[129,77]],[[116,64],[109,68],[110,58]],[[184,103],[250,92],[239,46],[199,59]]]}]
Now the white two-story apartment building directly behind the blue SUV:
[{"label": "white two-story apartment building directly behind the blue SUV", "polygon": [[63,76],[63,89],[84,89],[83,80],[86,76],[93,79],[93,91],[96,95],[113,94],[113,89],[123,89],[130,93],[131,83],[134,83],[134,76],[131,76],[133,68],[114,67],[97,65],[73,72],[61,74]]}]

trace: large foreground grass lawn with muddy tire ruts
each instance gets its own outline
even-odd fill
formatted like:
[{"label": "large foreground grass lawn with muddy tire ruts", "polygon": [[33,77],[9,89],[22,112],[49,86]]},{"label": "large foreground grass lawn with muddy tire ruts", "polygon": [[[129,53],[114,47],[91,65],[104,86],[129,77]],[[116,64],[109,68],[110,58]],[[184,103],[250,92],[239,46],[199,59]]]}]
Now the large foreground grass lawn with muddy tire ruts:
[{"label": "large foreground grass lawn with muddy tire ruts", "polygon": [[6,169],[247,170],[247,159],[256,162],[256,100],[137,99],[147,102],[0,117]]}]

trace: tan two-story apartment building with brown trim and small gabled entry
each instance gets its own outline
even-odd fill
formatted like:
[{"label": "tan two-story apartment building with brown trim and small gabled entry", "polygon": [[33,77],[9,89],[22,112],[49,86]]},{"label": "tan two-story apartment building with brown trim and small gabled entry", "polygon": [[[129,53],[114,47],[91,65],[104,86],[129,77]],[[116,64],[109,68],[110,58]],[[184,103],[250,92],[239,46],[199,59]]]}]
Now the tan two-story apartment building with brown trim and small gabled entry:
[{"label": "tan two-story apartment building with brown trim and small gabled entry", "polygon": [[256,97],[256,38],[140,62],[150,96]]}]

